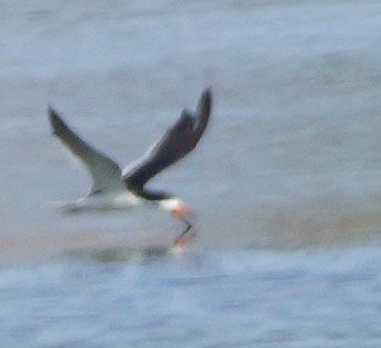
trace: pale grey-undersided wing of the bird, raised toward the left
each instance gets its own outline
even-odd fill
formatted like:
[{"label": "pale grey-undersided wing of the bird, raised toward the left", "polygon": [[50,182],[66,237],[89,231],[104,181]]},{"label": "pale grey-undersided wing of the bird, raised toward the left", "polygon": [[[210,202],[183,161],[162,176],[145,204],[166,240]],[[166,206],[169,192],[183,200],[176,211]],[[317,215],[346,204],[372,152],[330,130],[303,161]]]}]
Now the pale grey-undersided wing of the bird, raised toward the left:
[{"label": "pale grey-undersided wing of the bird, raised toward the left", "polygon": [[90,171],[92,177],[90,195],[126,187],[121,180],[121,170],[112,159],[77,136],[51,107],[48,113],[53,133]]}]

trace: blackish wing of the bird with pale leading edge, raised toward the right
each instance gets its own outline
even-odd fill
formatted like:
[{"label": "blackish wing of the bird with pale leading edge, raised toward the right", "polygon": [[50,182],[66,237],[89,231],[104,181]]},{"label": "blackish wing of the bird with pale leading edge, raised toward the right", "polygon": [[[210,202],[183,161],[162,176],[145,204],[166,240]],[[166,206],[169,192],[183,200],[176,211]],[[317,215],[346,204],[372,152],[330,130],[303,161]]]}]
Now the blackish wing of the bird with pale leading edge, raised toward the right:
[{"label": "blackish wing of the bird with pale leading edge, raised toward the right", "polygon": [[212,107],[210,89],[202,92],[195,113],[184,110],[178,121],[123,175],[128,188],[140,191],[157,173],[192,151],[202,137]]}]

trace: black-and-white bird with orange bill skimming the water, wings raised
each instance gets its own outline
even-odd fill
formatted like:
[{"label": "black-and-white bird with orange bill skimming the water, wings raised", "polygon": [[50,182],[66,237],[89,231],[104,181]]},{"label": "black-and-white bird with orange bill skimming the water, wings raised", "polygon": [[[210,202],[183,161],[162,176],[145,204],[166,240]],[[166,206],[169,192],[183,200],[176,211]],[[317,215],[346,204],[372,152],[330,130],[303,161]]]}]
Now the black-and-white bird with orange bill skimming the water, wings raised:
[{"label": "black-and-white bird with orange bill skimming the water, wings raised", "polygon": [[209,123],[211,109],[212,91],[207,88],[194,112],[183,109],[177,121],[146,153],[122,170],[108,155],[80,138],[49,106],[52,133],[86,166],[92,179],[87,196],[74,201],[56,202],[56,207],[66,212],[80,212],[126,210],[151,203],[184,223],[184,230],[174,239],[174,246],[187,246],[191,240],[187,235],[193,227],[189,206],[180,197],[148,188],[147,183],[195,148]]}]

